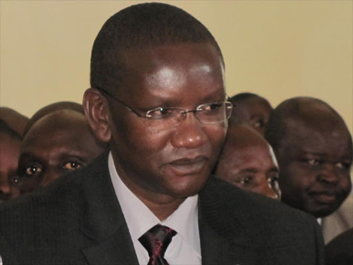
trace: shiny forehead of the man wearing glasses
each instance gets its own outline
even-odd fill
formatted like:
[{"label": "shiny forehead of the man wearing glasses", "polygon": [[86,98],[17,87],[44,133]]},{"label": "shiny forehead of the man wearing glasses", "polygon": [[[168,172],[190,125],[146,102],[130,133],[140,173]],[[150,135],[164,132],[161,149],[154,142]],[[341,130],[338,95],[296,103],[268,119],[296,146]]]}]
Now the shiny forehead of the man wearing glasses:
[{"label": "shiny forehead of the man wearing glasses", "polygon": [[223,64],[210,43],[125,50],[123,63],[124,88],[118,93],[121,98],[133,97],[137,104],[151,99],[173,104],[190,95],[200,101],[225,96]]}]

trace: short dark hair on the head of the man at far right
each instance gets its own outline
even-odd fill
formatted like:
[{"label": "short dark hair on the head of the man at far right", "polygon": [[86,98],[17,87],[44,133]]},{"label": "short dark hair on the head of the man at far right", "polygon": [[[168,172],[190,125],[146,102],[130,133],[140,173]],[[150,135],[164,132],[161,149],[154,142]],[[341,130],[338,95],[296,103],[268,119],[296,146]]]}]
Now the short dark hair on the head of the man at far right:
[{"label": "short dark hair on the head of the man at far right", "polygon": [[301,117],[303,106],[310,106],[312,104],[319,104],[319,106],[322,106],[323,109],[336,116],[337,119],[340,119],[343,124],[345,124],[341,115],[321,99],[316,99],[314,97],[293,97],[287,99],[272,110],[265,130],[264,137],[268,140],[275,153],[281,148],[282,139],[285,138],[285,135],[288,132],[288,121],[290,119],[298,119],[298,117]]}]

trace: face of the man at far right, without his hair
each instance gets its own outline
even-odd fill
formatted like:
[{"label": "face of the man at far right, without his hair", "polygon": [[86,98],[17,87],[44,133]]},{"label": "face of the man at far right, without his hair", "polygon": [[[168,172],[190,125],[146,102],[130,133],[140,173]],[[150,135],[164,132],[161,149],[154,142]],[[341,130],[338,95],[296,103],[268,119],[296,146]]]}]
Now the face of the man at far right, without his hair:
[{"label": "face of the man at far right, without his hair", "polygon": [[351,188],[352,141],[343,126],[293,121],[277,154],[282,200],[315,217],[339,208]]}]

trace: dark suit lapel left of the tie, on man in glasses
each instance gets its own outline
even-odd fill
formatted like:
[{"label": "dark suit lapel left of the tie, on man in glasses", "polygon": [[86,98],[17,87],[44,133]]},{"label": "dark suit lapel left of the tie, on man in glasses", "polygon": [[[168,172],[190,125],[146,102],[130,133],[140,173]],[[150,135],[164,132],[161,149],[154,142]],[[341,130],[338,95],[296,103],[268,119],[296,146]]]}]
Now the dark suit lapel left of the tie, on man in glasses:
[{"label": "dark suit lapel left of the tie, on man in glasses", "polygon": [[83,177],[81,230],[92,244],[81,251],[88,264],[137,265],[128,226],[123,217],[108,170],[108,154],[92,164]]}]

